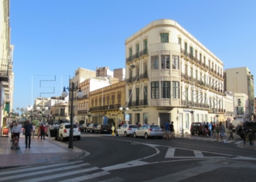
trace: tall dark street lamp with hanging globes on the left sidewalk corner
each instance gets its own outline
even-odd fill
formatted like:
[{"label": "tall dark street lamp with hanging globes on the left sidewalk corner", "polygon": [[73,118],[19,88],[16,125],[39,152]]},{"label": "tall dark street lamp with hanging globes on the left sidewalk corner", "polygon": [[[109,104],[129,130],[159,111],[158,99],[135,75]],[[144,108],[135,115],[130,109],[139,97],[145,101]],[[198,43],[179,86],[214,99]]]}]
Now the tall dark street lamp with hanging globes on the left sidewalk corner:
[{"label": "tall dark street lamp with hanging globes on the left sidewalk corner", "polygon": [[62,98],[67,98],[67,92],[66,89],[71,92],[71,113],[70,113],[70,130],[69,130],[69,149],[73,149],[73,92],[77,91],[77,97],[83,98],[83,92],[80,90],[80,88],[75,87],[75,83],[72,82],[71,88],[64,87],[63,92],[61,93]]}]

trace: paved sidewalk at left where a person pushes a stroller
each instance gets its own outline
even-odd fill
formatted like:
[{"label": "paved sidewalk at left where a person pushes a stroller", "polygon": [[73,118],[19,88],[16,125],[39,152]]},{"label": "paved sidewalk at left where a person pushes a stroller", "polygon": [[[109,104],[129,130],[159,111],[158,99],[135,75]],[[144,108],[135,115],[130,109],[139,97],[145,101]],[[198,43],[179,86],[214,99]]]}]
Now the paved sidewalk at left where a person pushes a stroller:
[{"label": "paved sidewalk at left where a person pushes a stroller", "polygon": [[[25,148],[25,135],[20,135],[20,149],[11,150],[11,137],[0,137],[0,168],[33,165],[40,162],[56,162],[76,159],[86,151],[74,147],[68,149],[66,143],[45,137],[45,141],[31,138],[31,148]],[[87,152],[88,153],[88,152]]]}]

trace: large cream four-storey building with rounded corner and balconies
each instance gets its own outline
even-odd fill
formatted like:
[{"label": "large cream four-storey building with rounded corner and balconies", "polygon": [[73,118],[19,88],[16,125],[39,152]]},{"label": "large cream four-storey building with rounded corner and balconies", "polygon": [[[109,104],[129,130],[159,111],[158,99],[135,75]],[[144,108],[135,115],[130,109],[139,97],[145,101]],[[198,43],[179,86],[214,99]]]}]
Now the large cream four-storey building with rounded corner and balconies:
[{"label": "large cream four-storey building with rounded corner and balconies", "polygon": [[125,41],[129,123],[218,122],[223,108],[223,63],[173,20],[156,20]]}]

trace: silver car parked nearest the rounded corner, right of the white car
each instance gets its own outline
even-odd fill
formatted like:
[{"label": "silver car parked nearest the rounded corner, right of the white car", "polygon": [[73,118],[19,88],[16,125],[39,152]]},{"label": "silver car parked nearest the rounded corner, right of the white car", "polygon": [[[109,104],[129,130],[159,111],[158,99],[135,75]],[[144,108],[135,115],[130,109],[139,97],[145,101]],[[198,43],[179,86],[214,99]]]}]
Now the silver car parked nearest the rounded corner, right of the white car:
[{"label": "silver car parked nearest the rounded corner, right of the white car", "polygon": [[135,130],[133,133],[133,137],[141,137],[148,139],[150,137],[157,137],[159,139],[162,139],[162,136],[164,134],[164,130],[162,130],[161,127],[157,125],[148,125],[144,124],[141,127],[138,128],[138,130]]}]

